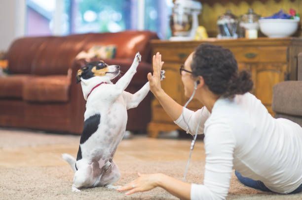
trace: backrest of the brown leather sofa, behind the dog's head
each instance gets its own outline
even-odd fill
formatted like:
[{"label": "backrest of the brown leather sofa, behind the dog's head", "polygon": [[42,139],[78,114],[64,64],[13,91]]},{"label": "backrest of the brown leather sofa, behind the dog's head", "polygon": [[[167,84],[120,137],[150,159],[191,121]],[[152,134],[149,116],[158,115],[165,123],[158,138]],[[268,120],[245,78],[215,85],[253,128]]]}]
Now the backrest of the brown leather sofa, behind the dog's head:
[{"label": "backrest of the brown leather sofa, behind the dog's head", "polygon": [[116,46],[116,58],[132,60],[139,51],[142,61],[150,62],[150,40],[156,38],[156,33],[151,31],[24,37],[10,46],[8,67],[13,74],[67,75],[79,52],[109,44]]}]

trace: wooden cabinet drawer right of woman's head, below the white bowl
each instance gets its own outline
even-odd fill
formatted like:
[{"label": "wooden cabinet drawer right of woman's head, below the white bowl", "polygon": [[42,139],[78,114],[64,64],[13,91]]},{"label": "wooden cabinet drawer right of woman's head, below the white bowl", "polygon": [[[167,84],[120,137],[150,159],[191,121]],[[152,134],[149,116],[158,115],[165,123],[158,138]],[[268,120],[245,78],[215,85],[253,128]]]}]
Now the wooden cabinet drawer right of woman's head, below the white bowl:
[{"label": "wooden cabinet drawer right of woman's head, below the white bowl", "polygon": [[287,47],[232,47],[237,62],[287,62]]}]

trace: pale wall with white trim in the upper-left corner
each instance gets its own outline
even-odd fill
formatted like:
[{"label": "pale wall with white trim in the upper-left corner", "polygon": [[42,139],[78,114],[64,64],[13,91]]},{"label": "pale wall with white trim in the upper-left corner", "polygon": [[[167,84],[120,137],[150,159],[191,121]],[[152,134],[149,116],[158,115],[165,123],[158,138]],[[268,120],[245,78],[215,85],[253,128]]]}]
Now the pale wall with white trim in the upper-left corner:
[{"label": "pale wall with white trim in the upper-left corner", "polygon": [[0,51],[24,35],[25,0],[0,0]]}]

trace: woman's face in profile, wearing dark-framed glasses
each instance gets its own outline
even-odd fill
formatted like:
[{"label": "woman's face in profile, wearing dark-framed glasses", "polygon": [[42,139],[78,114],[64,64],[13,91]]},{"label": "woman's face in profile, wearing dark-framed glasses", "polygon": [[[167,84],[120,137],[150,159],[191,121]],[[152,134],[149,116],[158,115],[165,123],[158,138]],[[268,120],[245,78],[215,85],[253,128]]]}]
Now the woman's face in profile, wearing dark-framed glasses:
[{"label": "woman's face in profile, wearing dark-framed glasses", "polygon": [[[192,58],[193,58],[193,53],[189,55],[189,57],[187,58],[184,64],[184,68],[190,72],[192,71],[191,70]],[[192,79],[191,73],[182,71],[182,82],[184,84],[185,95],[187,97],[190,97],[194,90],[194,80]]]}]

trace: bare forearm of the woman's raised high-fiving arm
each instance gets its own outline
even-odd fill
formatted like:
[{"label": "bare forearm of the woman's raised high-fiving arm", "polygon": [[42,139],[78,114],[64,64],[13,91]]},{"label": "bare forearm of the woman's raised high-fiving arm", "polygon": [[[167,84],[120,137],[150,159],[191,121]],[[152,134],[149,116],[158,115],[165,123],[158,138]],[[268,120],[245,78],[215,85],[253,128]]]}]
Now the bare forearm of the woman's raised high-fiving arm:
[{"label": "bare forearm of the woman's raised high-fiving arm", "polygon": [[175,121],[182,114],[183,106],[174,101],[163,89],[153,93],[165,112]]}]

